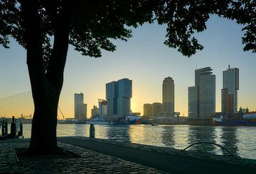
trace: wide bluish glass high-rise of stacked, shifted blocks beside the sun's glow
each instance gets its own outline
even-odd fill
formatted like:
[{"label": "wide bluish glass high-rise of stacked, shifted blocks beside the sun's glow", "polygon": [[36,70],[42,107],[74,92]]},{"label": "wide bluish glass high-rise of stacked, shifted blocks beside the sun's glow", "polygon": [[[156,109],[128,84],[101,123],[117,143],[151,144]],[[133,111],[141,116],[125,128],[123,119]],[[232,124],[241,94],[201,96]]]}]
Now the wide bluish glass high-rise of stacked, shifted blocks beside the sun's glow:
[{"label": "wide bluish glass high-rise of stacked, shifted blocks beside the sun's glow", "polygon": [[132,80],[120,79],[106,84],[107,115],[129,115],[131,112]]}]

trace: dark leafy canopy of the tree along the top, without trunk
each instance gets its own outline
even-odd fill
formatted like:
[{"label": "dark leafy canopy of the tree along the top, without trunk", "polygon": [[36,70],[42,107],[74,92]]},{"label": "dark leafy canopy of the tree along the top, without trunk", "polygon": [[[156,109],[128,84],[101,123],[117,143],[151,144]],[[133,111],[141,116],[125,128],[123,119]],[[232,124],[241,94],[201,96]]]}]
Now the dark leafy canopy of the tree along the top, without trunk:
[{"label": "dark leafy canopy of the tree along the top, without trunk", "polygon": [[[8,47],[11,36],[26,48],[26,24],[21,13],[23,1],[0,1],[0,44],[4,47]],[[111,39],[127,40],[132,36],[132,30],[127,29],[129,26],[166,24],[164,44],[190,57],[197,50],[203,50],[193,34],[206,30],[211,14],[242,24],[244,50],[256,52],[256,1],[253,0],[38,0],[29,4],[30,8],[34,5],[38,13],[46,67],[52,51],[50,37],[60,25],[68,28],[69,44],[75,50],[100,57],[101,50],[115,50]]]}]

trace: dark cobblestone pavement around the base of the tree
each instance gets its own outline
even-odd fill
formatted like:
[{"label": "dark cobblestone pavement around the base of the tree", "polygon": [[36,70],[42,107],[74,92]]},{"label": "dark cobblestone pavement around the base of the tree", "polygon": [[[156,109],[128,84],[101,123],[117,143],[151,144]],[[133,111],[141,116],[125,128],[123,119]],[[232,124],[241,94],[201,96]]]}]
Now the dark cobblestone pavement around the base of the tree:
[{"label": "dark cobblestone pavement around the base of the tree", "polygon": [[80,157],[38,158],[17,162],[14,149],[26,148],[28,145],[29,139],[0,141],[0,173],[164,173],[155,168],[60,142],[58,146]]}]

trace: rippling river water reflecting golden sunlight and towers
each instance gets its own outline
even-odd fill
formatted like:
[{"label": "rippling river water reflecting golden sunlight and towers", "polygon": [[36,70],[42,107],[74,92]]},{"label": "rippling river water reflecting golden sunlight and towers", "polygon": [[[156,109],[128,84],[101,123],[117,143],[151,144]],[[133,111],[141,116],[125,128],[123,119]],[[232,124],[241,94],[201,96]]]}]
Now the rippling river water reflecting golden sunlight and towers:
[{"label": "rippling river water reflecting golden sunlight and towers", "polygon": [[[58,124],[57,136],[89,137],[89,124]],[[25,138],[31,136],[31,124],[23,124]],[[256,159],[256,127],[212,127],[190,125],[95,125],[95,138],[112,139],[137,144],[184,149],[198,141],[220,144],[242,158]],[[216,146],[207,146],[208,151],[222,153]],[[203,146],[194,146],[201,151]],[[204,149],[203,149],[204,150]]]}]

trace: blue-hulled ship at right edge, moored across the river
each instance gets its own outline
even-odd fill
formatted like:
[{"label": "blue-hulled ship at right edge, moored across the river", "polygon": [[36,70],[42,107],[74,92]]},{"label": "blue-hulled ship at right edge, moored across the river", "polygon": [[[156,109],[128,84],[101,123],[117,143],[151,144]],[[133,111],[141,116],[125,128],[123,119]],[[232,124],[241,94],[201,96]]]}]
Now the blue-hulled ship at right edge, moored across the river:
[{"label": "blue-hulled ship at right edge, moored across the river", "polygon": [[256,126],[256,113],[215,115],[211,122],[215,126]]}]

